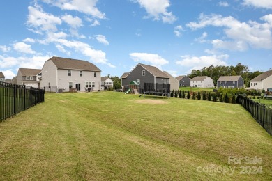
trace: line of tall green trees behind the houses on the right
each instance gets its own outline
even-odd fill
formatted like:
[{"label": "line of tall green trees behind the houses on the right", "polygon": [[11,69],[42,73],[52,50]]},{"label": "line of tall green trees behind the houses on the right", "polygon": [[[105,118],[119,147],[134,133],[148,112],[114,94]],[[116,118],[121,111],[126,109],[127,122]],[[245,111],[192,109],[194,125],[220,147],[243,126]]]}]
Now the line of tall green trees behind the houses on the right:
[{"label": "line of tall green trees behind the houses on the right", "polygon": [[237,63],[234,67],[233,65],[230,66],[214,66],[210,65],[209,67],[204,67],[201,70],[192,70],[190,74],[187,76],[190,79],[197,77],[197,76],[209,76],[213,79],[213,84],[217,84],[217,80],[220,76],[234,76],[234,75],[241,75],[245,82],[246,87],[250,87],[250,80],[257,77],[259,74],[263,72],[255,71],[249,72],[248,66],[243,65],[242,63]]}]

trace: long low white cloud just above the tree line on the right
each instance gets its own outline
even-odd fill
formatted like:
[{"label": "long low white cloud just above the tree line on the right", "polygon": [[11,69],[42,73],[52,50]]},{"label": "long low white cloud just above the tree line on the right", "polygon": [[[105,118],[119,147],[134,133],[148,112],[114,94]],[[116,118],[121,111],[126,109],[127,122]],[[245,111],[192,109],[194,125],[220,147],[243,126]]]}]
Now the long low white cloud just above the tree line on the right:
[{"label": "long low white cloud just above the tree line on the right", "polygon": [[181,56],[181,61],[176,61],[177,65],[192,68],[195,70],[208,67],[210,65],[227,65],[226,60],[229,58],[227,54],[211,55],[211,56]]}]

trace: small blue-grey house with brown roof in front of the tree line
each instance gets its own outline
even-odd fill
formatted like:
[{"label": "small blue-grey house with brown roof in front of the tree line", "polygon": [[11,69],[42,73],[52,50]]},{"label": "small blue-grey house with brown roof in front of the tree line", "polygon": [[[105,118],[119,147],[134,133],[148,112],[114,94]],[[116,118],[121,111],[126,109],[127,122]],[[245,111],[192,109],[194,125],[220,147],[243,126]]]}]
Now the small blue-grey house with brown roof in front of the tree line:
[{"label": "small blue-grey house with brown roof in front of the tree line", "polygon": [[243,78],[239,76],[221,76],[217,80],[217,88],[243,88]]}]

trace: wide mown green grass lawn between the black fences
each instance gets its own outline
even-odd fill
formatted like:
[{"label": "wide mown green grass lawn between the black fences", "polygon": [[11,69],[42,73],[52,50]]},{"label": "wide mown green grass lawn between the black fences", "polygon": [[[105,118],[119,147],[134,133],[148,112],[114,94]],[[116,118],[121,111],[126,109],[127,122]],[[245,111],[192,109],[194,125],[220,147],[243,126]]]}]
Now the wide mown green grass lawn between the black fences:
[{"label": "wide mown green grass lawn between the black fences", "polygon": [[272,136],[238,104],[46,94],[0,123],[0,180],[271,179]]}]

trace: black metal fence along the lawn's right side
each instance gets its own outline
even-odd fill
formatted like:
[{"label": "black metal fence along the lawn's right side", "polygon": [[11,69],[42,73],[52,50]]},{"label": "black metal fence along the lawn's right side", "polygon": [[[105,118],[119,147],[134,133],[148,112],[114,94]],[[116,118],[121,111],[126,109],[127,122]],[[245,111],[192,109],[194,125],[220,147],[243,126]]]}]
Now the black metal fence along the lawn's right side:
[{"label": "black metal fence along the lawn's right side", "polygon": [[253,118],[266,129],[270,135],[272,135],[272,108],[250,100],[248,97],[239,95],[236,100],[237,103],[241,104],[246,110],[248,110]]}]

